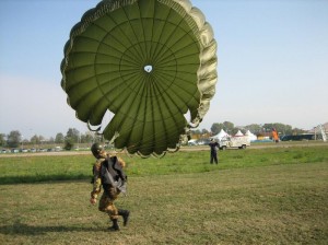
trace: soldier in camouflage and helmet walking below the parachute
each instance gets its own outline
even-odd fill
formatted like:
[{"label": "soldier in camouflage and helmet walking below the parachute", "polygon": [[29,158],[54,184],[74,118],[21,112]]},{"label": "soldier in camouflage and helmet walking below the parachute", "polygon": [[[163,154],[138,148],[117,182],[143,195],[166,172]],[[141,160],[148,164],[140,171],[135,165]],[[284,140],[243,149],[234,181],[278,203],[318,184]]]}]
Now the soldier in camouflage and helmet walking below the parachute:
[{"label": "soldier in camouflage and helmet walking below the parachute", "polygon": [[91,191],[90,202],[96,203],[96,198],[102,191],[103,195],[99,200],[98,210],[108,214],[113,225],[109,228],[112,231],[119,231],[118,218],[122,217],[124,226],[127,225],[129,220],[129,210],[117,209],[114,200],[117,199],[120,192],[126,192],[127,175],[124,173],[126,163],[116,155],[107,154],[104,149],[94,143],[91,147],[96,162],[93,165],[93,189]]}]

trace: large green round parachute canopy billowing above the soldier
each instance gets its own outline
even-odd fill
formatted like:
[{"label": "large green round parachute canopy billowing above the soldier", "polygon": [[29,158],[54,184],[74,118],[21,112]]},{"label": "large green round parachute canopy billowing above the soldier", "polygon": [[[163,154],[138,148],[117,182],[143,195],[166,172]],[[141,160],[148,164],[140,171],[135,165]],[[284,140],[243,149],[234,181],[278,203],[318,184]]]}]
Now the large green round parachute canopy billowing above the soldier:
[{"label": "large green round parachute canopy billowing above the soldier", "polygon": [[[216,43],[188,0],[103,0],[72,27],[61,86],[77,117],[117,149],[176,151],[215,93]],[[189,121],[186,119],[189,115]]]}]

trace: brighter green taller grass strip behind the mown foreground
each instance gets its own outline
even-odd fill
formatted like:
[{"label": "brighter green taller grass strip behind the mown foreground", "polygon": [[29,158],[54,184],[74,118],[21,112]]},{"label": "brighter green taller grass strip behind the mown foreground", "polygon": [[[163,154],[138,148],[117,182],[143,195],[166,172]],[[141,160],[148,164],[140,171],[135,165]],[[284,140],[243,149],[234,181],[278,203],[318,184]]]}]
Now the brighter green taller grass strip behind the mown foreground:
[{"label": "brighter green taller grass strip behind the mown foreground", "polygon": [[[129,176],[204,173],[218,168],[208,164],[209,151],[180,151],[167,153],[162,159],[122,156],[127,162]],[[328,162],[328,144],[220,151],[219,161],[221,170]],[[0,184],[86,179],[91,177],[93,162],[91,154],[0,158]]]}]

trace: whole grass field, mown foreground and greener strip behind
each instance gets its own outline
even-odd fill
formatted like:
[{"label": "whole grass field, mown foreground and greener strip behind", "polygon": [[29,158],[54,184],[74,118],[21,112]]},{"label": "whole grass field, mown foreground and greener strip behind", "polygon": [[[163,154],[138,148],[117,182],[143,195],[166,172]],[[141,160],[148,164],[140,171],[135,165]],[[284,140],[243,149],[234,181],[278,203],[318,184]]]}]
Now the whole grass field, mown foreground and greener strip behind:
[{"label": "whole grass field, mown foreground and greener strip behind", "polygon": [[91,156],[0,159],[0,244],[328,244],[328,144],[125,159],[116,233],[89,205]]}]

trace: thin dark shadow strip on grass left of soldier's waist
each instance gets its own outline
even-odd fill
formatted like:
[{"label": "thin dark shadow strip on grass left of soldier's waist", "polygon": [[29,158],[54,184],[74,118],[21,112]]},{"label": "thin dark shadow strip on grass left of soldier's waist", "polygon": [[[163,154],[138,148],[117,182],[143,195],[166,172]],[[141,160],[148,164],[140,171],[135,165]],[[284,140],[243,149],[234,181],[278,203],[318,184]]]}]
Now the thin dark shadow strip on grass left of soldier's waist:
[{"label": "thin dark shadow strip on grass left of soldier's waist", "polygon": [[91,175],[39,175],[39,176],[9,176],[0,177],[0,185],[16,185],[16,184],[35,184],[46,182],[61,182],[61,180],[84,180],[91,179]]}]

